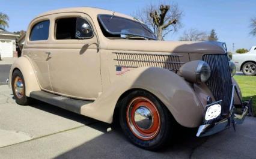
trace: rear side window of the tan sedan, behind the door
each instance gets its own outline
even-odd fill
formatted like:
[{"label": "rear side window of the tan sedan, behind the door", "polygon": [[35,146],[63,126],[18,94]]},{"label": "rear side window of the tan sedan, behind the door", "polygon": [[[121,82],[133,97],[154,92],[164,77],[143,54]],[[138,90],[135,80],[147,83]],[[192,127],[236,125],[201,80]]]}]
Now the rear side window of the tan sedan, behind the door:
[{"label": "rear side window of the tan sedan, behind the door", "polygon": [[30,41],[47,40],[49,37],[50,20],[44,20],[33,26],[29,36]]}]

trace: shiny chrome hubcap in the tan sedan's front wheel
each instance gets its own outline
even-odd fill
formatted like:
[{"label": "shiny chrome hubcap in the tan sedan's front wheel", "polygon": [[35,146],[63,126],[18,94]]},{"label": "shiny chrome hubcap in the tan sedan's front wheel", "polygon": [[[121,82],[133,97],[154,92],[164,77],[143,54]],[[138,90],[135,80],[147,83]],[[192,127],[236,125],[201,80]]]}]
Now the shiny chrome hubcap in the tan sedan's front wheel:
[{"label": "shiny chrome hubcap in the tan sedan's front wheel", "polygon": [[149,129],[153,124],[152,113],[145,106],[141,106],[135,110],[134,121],[139,128]]}]

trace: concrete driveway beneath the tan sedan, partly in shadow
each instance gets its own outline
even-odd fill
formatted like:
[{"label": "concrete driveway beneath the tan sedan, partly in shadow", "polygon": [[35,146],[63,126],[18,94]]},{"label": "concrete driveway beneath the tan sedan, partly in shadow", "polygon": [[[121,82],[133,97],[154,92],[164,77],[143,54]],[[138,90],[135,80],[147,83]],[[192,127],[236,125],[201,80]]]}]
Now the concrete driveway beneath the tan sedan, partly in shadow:
[{"label": "concrete driveway beneath the tan sedan, partly in shadow", "polygon": [[0,158],[256,158],[256,118],[197,138],[180,128],[174,142],[158,152],[133,146],[119,128],[35,101],[14,103],[0,86]]}]

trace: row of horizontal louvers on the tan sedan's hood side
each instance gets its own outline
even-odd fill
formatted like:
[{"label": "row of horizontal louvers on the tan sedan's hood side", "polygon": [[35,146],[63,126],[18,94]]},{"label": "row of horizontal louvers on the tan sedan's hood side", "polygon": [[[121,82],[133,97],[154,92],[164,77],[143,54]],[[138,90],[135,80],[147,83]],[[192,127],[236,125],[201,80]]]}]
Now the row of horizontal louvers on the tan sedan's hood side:
[{"label": "row of horizontal louvers on the tan sedan's hood side", "polygon": [[181,55],[155,53],[124,53],[113,52],[116,55],[117,67],[161,67],[177,71],[184,62],[180,62]]}]

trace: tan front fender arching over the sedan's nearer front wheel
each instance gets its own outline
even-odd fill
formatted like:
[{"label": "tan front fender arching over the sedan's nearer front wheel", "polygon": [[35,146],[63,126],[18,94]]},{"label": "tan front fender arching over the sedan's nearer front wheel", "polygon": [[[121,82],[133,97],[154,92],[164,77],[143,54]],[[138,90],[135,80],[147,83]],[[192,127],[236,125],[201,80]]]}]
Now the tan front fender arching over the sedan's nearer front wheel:
[{"label": "tan front fender arching over the sedan's nearer front wheel", "polygon": [[130,89],[144,89],[156,95],[184,127],[198,127],[202,122],[204,109],[194,89],[172,71],[156,67],[136,68],[118,77],[92,106],[83,106],[81,113],[112,122],[118,99]]}]

